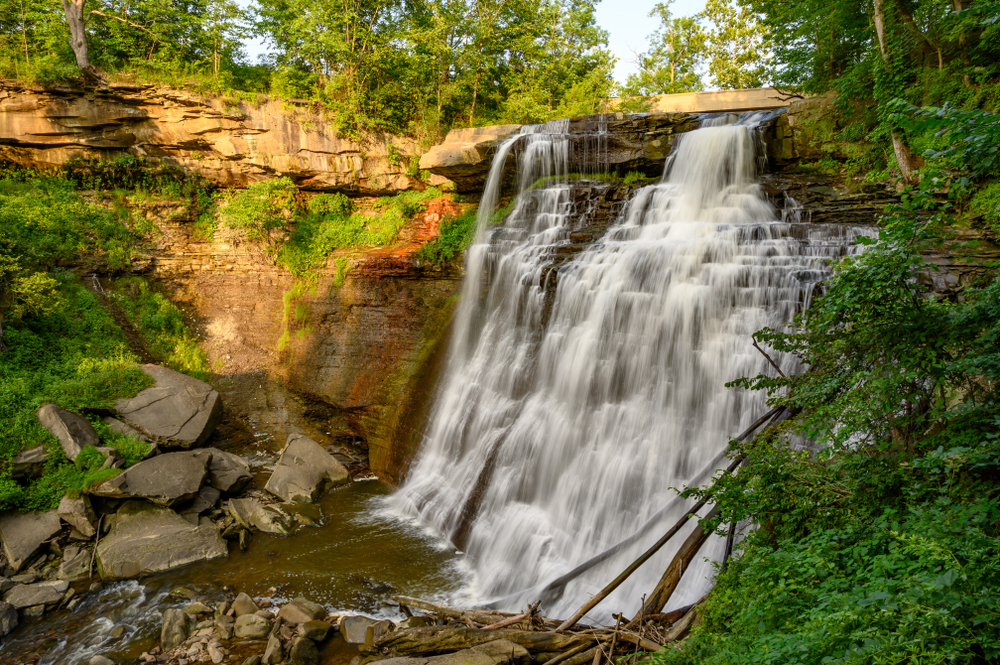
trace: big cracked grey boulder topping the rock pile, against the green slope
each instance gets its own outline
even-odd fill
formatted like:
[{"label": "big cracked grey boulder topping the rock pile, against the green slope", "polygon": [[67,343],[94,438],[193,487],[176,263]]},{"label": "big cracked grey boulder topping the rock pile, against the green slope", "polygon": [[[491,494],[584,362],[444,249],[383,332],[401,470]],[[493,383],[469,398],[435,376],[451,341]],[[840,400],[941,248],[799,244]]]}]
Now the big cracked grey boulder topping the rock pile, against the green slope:
[{"label": "big cracked grey boulder topping the rock pile, against the green slope", "polygon": [[121,420],[167,448],[192,448],[208,440],[222,421],[222,398],[212,386],[159,365],[142,371],[156,384],[115,402]]}]

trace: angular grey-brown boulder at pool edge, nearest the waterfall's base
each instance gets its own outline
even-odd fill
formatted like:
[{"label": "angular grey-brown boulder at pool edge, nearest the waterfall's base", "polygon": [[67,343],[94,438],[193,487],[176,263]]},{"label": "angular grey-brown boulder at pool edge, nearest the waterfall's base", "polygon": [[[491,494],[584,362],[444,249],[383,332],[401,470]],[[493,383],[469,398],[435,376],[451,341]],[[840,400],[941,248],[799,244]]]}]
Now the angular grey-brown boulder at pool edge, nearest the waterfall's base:
[{"label": "angular grey-brown boulder at pool edge, nearest the waterfall's base", "polygon": [[264,489],[285,501],[312,502],[328,487],[350,480],[344,465],[322,446],[301,434],[291,434]]}]

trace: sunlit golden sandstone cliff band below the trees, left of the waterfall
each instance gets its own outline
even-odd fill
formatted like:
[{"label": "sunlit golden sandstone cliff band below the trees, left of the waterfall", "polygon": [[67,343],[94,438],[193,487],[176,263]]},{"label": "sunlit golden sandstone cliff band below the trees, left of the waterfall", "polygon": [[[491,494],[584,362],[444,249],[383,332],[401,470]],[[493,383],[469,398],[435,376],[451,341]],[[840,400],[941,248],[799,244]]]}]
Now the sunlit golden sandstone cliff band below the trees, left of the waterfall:
[{"label": "sunlit golden sandstone cliff band below the trees, left of the waterfall", "polygon": [[422,186],[405,173],[417,154],[412,140],[382,135],[355,142],[325,131],[327,125],[310,109],[279,100],[227,106],[149,85],[86,90],[0,82],[0,159],[24,166],[128,153],[226,187],[276,176],[303,189],[358,194]]}]

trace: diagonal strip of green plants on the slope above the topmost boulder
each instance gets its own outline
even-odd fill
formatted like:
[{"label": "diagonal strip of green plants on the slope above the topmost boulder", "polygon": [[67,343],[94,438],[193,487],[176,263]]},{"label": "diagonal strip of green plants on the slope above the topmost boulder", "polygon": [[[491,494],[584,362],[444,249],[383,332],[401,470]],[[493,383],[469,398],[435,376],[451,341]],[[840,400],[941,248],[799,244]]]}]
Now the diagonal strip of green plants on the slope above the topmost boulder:
[{"label": "diagonal strip of green plants on the slope above the topmost boulder", "polygon": [[138,329],[143,346],[159,362],[185,374],[207,380],[211,367],[198,338],[184,323],[180,308],[153,291],[142,277],[116,279],[108,296]]}]

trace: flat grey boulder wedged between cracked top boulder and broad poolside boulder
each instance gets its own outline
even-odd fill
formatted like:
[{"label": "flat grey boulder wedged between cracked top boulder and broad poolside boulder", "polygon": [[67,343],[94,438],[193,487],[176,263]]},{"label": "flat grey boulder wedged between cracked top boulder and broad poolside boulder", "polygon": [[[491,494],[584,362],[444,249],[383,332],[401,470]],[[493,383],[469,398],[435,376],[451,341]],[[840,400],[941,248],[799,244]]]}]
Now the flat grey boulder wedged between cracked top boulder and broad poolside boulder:
[{"label": "flat grey boulder wedged between cracked top boulder and broad poolside boulder", "polygon": [[173,506],[198,496],[211,460],[212,453],[205,450],[157,455],[90,492],[116,499],[143,498],[161,506]]}]

